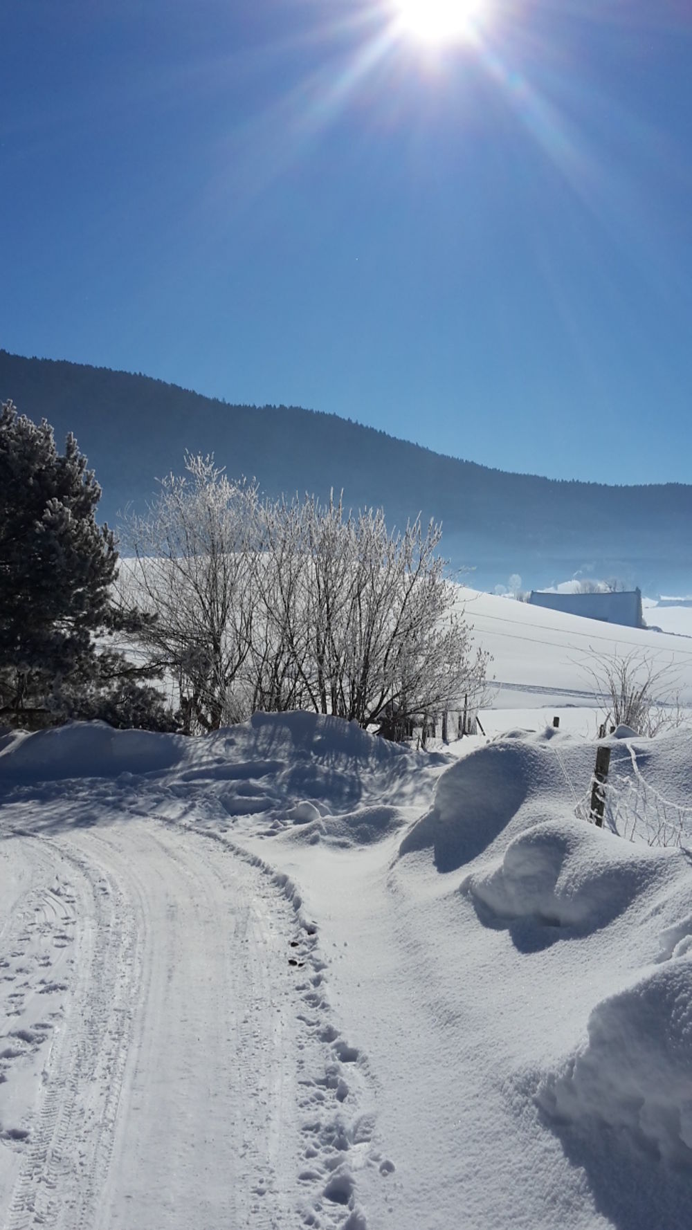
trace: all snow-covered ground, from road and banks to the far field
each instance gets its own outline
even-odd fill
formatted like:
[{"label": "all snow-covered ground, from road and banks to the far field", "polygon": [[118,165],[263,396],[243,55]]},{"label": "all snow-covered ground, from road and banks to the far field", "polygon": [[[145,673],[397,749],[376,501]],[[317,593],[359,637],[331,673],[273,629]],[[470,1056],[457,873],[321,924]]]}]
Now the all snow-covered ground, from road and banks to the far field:
[{"label": "all snow-covered ground, from road and banks to the far field", "polygon": [[649,846],[575,817],[566,717],[582,643],[672,654],[692,697],[692,642],[467,598],[490,742],[0,740],[6,1230],[690,1225],[690,732],[610,740],[682,825]]}]

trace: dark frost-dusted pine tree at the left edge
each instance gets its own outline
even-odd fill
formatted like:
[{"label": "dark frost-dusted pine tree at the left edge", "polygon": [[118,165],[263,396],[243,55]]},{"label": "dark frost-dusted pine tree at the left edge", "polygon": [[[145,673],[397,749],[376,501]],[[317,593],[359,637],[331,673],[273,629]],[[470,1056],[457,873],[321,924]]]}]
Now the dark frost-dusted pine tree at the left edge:
[{"label": "dark frost-dusted pine tree at the left edge", "polygon": [[[0,721],[43,726],[99,716],[95,694],[135,668],[95,635],[113,630],[118,554],[96,523],[101,488],[74,435],[58,453],[53,429],[0,412]],[[137,622],[137,613],[124,621]],[[132,690],[132,689],[131,689]],[[149,691],[149,690],[147,690]],[[112,702],[111,708],[112,708]],[[145,724],[145,723],[142,723]]]}]

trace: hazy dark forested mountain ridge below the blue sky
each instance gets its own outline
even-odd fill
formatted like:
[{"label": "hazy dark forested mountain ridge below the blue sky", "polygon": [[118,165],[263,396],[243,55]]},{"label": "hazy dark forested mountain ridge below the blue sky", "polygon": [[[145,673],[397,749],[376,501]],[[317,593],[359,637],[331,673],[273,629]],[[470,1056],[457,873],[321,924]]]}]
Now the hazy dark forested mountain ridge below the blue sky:
[{"label": "hazy dark forested mountain ridge below the blue sky", "polygon": [[[149,376],[0,351],[0,400],[71,430],[103,488],[100,515],[117,524],[183,453],[214,453],[229,475],[268,494],[344,488],[352,507],[382,506],[390,524],[422,512],[442,520],[443,549],[494,584],[528,585],[579,568],[649,589],[692,590],[692,486],[611,487],[506,474],[442,456],[371,427],[296,406],[233,406]],[[459,419],[459,451],[463,451]]]}]

